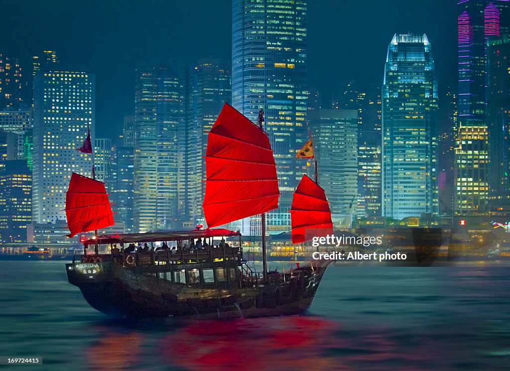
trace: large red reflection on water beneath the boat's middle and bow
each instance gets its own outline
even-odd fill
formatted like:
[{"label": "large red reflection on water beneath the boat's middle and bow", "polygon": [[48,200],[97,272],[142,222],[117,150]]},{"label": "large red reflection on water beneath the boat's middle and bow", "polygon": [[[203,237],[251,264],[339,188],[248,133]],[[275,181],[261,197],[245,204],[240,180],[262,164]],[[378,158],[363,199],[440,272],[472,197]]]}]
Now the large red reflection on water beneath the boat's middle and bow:
[{"label": "large red reflection on water beneath the boat's middle and bow", "polygon": [[324,355],[341,346],[337,326],[304,316],[192,322],[167,336],[161,349],[169,364],[193,371],[343,370],[341,359]]}]

